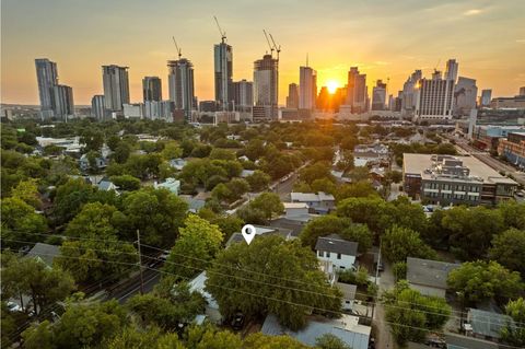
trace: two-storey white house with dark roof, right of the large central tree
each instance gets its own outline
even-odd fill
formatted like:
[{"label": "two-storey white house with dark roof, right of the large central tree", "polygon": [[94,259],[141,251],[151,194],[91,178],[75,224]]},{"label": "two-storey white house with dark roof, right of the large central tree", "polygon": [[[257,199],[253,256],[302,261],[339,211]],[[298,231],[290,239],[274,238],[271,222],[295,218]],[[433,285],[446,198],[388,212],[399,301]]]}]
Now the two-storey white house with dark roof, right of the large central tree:
[{"label": "two-storey white house with dark roof, right of the large central tree", "polygon": [[335,275],[338,270],[355,268],[358,243],[346,241],[337,234],[320,236],[315,244],[315,253],[324,267],[324,271],[328,275]]}]

